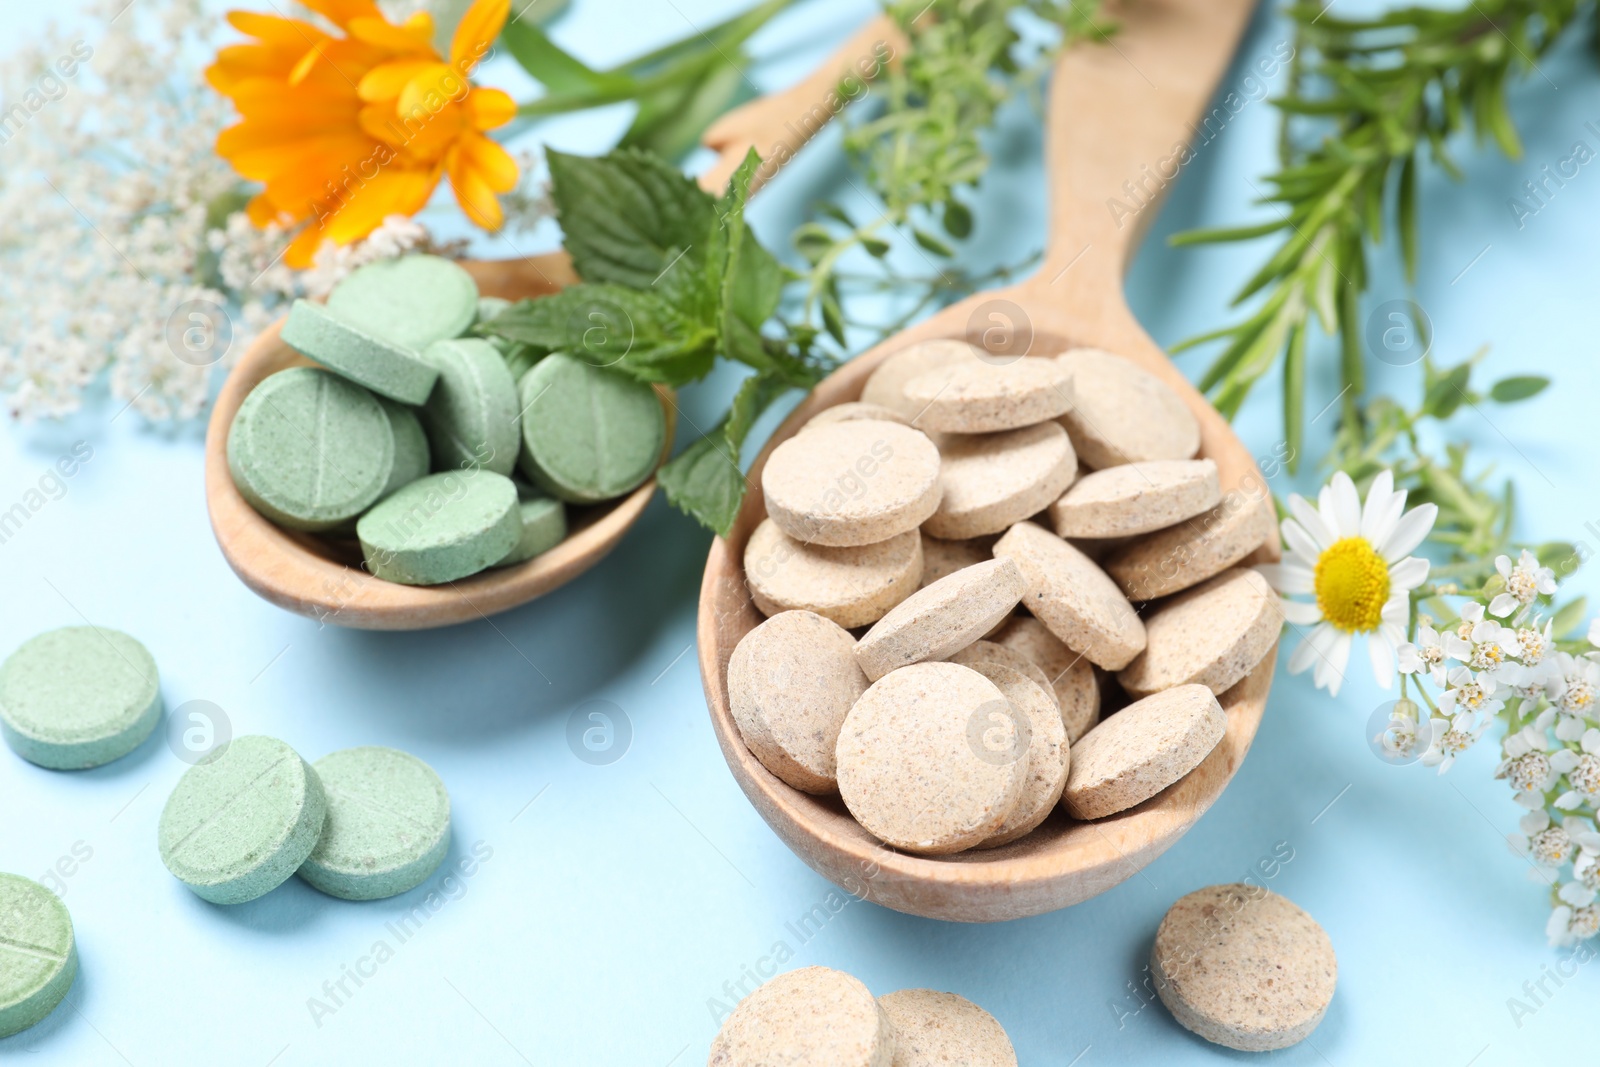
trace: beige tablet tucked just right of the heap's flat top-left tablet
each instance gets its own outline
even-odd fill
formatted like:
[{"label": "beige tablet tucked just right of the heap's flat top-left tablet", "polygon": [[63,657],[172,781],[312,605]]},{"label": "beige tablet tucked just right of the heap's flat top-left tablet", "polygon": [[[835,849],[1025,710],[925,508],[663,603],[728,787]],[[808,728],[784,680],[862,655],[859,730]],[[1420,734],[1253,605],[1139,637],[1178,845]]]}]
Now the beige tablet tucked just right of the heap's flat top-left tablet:
[{"label": "beige tablet tucked just right of the heap's flat top-left tablet", "polygon": [[944,498],[922,528],[934,537],[995,534],[1045,510],[1072,485],[1078,461],[1058,422],[1002,434],[950,434],[939,443]]}]

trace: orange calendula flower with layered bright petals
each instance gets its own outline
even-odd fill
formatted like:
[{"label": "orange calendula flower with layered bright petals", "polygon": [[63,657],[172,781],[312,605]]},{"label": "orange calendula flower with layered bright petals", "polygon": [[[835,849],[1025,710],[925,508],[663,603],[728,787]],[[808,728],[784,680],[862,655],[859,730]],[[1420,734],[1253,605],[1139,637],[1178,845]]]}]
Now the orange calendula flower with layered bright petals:
[{"label": "orange calendula flower with layered bright petals", "polygon": [[304,0],[342,37],[304,19],[230,11],[253,40],[218,51],[206,80],[234,101],[240,123],[218,155],[262,182],[256,226],[301,227],[285,262],[309,267],[317,248],[347,245],[390,214],[416,214],[446,174],[467,218],[486,230],[504,216],[498,194],[517,163],[485,136],[517,115],[472,70],[499,37],[510,0],[475,0],[450,54],[434,48],[426,11],[395,26],[373,0]]}]

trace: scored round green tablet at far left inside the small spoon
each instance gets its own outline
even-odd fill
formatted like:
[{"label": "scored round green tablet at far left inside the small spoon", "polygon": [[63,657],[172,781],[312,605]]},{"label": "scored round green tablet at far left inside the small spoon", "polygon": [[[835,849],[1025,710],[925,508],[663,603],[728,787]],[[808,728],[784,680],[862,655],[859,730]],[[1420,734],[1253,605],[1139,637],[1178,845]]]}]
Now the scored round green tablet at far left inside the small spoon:
[{"label": "scored round green tablet at far left inside the small spoon", "polygon": [[333,530],[373,506],[395,466],[395,432],[378,398],[310,366],[250,390],[227,429],[240,496],[291,530]]}]

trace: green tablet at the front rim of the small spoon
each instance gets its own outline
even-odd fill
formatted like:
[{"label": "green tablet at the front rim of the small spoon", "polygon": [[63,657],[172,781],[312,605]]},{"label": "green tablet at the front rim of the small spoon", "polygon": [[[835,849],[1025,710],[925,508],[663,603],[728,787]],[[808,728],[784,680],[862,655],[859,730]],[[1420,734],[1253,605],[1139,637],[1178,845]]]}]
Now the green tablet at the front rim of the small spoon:
[{"label": "green tablet at the front rim of the small spoon", "polygon": [[493,470],[430,474],[355,523],[366,569],[405,585],[438,585],[506,558],[522,539],[517,486]]}]

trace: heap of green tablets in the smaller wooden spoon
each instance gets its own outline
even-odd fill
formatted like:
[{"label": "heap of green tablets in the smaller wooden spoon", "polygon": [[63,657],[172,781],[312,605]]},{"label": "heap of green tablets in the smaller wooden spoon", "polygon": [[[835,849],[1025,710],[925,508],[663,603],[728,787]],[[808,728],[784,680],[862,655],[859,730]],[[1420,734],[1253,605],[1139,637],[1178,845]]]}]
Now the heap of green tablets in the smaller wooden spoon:
[{"label": "heap of green tablets in the smaller wooden spoon", "polygon": [[318,366],[272,374],[240,405],[240,494],[288,530],[354,533],[368,571],[408,585],[560,544],[570,504],[650,478],[666,418],[618,370],[472,336],[506,307],[438,256],[368,264],[326,306],[296,301],[283,342]]}]

